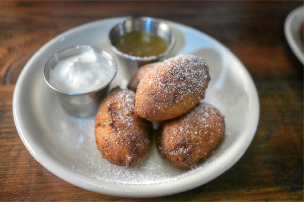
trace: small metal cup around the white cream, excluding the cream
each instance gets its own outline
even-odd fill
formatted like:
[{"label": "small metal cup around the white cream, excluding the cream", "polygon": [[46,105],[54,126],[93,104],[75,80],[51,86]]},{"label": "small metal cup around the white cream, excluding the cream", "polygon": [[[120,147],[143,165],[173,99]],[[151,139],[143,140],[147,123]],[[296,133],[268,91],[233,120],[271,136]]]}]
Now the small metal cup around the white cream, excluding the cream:
[{"label": "small metal cup around the white cream, excluding the cream", "polygon": [[113,64],[115,64],[115,74],[113,76],[114,78],[117,73],[117,65],[113,57],[109,53],[105,51],[100,51],[98,48],[89,45],[79,45],[75,47],[70,47],[56,53],[48,60],[44,68],[44,80],[47,85],[56,92],[59,97],[59,101],[63,108],[66,110],[66,112],[70,115],[77,117],[89,117],[96,115],[101,99],[107,91],[108,86],[113,80],[113,78],[106,85],[100,86],[100,88],[96,89],[95,91],[85,93],[69,93],[57,89],[49,82],[50,73],[60,60],[73,55],[84,53],[86,51],[89,51],[90,49],[93,49],[95,52],[102,54],[106,59],[112,61]]}]

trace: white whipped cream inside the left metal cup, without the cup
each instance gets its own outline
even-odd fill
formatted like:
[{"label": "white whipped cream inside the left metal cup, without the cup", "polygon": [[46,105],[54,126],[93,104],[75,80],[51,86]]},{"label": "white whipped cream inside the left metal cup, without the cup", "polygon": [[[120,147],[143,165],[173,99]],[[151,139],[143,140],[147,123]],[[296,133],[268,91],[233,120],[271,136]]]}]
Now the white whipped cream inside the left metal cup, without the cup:
[{"label": "white whipped cream inside the left metal cup, without the cup", "polygon": [[114,77],[115,64],[101,53],[90,49],[59,61],[50,72],[50,84],[67,93],[95,91]]}]

